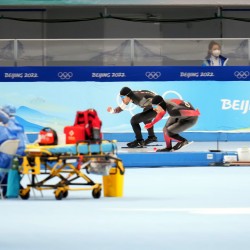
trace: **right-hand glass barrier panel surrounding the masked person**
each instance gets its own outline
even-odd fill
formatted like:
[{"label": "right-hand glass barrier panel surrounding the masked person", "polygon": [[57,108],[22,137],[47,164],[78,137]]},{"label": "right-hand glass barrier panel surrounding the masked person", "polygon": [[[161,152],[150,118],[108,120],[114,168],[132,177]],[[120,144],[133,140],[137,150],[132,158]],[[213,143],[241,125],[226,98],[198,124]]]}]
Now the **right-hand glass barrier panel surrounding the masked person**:
[{"label": "right-hand glass barrier panel surrounding the masked person", "polygon": [[[230,66],[249,65],[248,40],[215,40],[222,55],[229,58]],[[200,66],[208,54],[209,40],[152,40],[141,39],[134,43],[134,65]],[[150,58],[150,59],[147,59]]]}]

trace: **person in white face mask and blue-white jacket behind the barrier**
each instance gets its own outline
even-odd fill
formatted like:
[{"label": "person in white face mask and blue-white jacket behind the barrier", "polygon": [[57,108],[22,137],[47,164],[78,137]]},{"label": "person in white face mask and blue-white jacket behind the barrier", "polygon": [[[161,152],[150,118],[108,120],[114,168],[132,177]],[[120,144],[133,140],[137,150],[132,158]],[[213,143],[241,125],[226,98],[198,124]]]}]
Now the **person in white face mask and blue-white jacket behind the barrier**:
[{"label": "person in white face mask and blue-white jacket behind the barrier", "polygon": [[211,41],[208,45],[208,53],[202,66],[226,66],[228,58],[221,55],[221,45]]}]

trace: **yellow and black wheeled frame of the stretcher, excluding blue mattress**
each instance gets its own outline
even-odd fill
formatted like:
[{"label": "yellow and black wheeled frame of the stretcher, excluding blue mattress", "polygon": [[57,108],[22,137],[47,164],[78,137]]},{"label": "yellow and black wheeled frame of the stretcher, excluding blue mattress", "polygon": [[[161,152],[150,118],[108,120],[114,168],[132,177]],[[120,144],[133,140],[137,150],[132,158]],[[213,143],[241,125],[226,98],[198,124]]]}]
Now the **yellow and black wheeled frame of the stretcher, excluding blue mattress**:
[{"label": "yellow and black wheeled frame of the stretcher, excluding blue mattress", "polygon": [[[122,160],[117,158],[116,147],[113,147],[112,152],[104,153],[102,150],[103,143],[114,143],[106,140],[98,141],[80,141],[76,146],[76,154],[53,154],[49,149],[56,146],[33,146],[25,150],[26,155],[23,157],[22,171],[23,176],[31,175],[30,183],[27,187],[21,187],[20,197],[29,199],[30,190],[38,191],[54,190],[54,195],[57,200],[66,198],[69,191],[92,190],[92,196],[95,199],[101,197],[102,184],[94,182],[84,170],[88,173],[88,168],[91,162],[112,162],[112,168],[118,168],[124,174]],[[90,147],[99,145],[99,153],[92,153]],[[88,153],[82,154],[79,151],[79,146],[87,145]],[[42,167],[43,166],[43,167]],[[66,174],[67,176],[65,177]],[[38,175],[41,180],[38,180]],[[45,178],[41,178],[46,175]],[[48,183],[55,177],[59,178],[59,182]],[[75,182],[80,179],[81,182]],[[84,181],[84,182],[82,182]],[[76,187],[77,186],[77,187]]]}]

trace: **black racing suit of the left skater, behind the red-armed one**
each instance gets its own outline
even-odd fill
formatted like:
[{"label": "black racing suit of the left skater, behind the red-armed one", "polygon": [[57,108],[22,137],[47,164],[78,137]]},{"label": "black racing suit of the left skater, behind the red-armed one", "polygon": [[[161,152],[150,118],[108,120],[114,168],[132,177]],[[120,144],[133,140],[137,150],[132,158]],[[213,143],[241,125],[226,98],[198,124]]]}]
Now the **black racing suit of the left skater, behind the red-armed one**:
[{"label": "black racing suit of the left skater, behind the red-armed one", "polygon": [[[148,90],[132,91],[132,93],[129,95],[133,104],[143,108],[141,113],[134,115],[130,120],[137,140],[143,139],[140,123],[150,123],[156,117],[157,113],[152,108],[152,99],[155,95],[155,93]],[[117,107],[114,109],[114,113],[120,113],[122,110],[122,108]],[[147,129],[147,131],[149,137],[155,136],[154,127]]]}]

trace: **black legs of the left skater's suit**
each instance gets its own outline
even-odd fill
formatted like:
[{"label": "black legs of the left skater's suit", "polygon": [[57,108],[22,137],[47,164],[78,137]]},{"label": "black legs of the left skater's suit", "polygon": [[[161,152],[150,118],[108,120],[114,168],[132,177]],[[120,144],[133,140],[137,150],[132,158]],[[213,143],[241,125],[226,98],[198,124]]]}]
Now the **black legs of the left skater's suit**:
[{"label": "black legs of the left skater's suit", "polygon": [[[140,123],[144,124],[150,123],[155,117],[157,113],[152,108],[144,108],[143,112],[134,115],[131,120],[131,126],[135,133],[135,138],[137,140],[142,140],[141,126]],[[148,136],[155,136],[154,127],[147,129]]]}]

